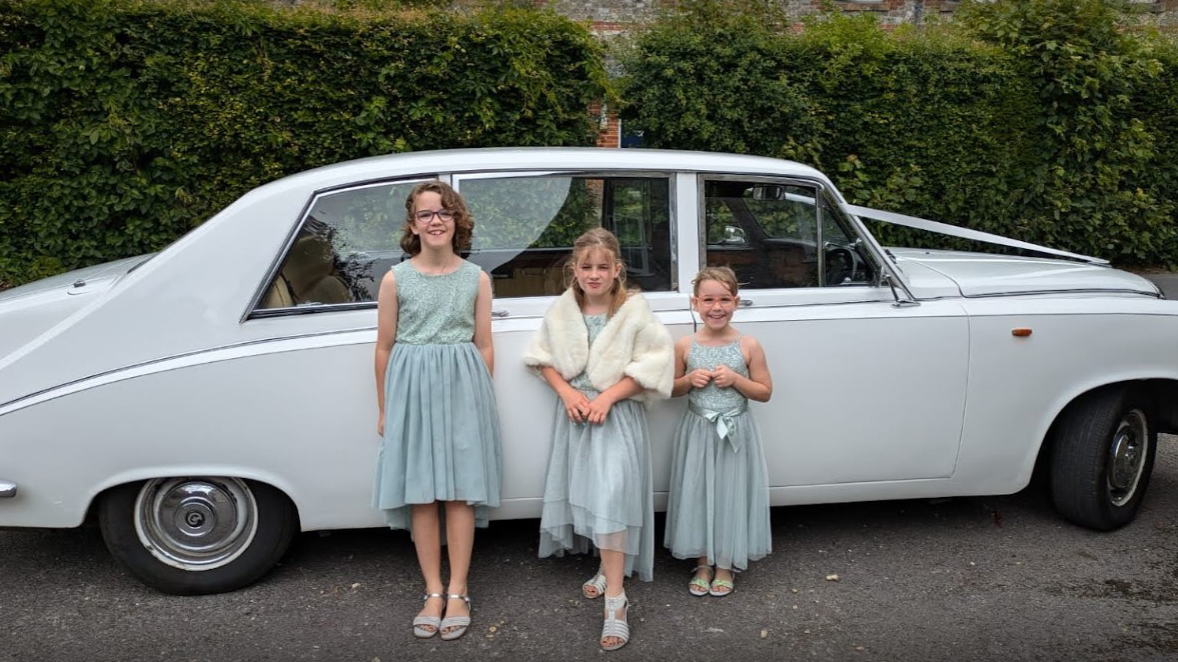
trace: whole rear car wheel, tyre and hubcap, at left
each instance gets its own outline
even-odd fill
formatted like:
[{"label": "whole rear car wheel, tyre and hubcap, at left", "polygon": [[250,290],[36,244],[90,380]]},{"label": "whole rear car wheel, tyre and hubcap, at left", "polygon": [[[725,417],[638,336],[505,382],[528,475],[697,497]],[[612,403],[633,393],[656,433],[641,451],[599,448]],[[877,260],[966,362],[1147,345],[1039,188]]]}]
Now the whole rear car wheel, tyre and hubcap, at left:
[{"label": "whole rear car wheel, tyre and hubcap, at left", "polygon": [[270,485],[190,476],[110,490],[99,525],[111,554],[145,584],[198,595],[260,578],[285,554],[298,517]]}]

